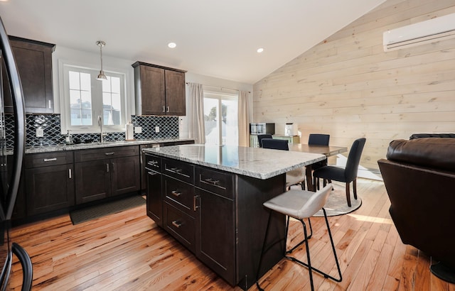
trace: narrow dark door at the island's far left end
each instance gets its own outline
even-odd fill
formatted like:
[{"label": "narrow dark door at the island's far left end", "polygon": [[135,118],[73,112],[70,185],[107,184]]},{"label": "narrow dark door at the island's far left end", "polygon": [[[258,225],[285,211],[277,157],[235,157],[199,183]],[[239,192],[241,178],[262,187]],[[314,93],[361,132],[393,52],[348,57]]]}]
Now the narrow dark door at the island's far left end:
[{"label": "narrow dark door at the island's far left end", "polygon": [[163,226],[163,198],[161,197],[161,174],[148,171],[147,174],[147,216]]}]

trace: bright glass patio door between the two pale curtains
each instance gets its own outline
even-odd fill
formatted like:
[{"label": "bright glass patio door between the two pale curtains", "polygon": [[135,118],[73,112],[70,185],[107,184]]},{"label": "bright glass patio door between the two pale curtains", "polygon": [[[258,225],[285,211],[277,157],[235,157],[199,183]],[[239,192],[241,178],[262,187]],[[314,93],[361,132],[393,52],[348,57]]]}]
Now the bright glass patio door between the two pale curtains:
[{"label": "bright glass patio door between the two pale curtains", "polygon": [[238,146],[238,97],[204,92],[205,143]]}]

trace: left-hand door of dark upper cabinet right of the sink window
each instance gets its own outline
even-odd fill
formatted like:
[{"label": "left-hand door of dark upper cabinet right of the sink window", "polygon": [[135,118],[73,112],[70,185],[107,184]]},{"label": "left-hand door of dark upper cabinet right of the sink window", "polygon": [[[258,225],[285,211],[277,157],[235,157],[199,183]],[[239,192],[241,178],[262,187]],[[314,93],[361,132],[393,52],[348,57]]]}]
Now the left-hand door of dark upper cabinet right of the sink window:
[{"label": "left-hand door of dark upper cabinet right of the sink window", "polygon": [[141,65],[140,70],[142,114],[166,114],[164,69]]}]

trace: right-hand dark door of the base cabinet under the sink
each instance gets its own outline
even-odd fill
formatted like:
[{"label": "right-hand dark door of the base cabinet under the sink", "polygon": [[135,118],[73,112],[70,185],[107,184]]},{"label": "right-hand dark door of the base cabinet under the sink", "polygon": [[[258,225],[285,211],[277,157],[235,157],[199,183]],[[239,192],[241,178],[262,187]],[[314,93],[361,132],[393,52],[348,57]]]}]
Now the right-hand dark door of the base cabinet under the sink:
[{"label": "right-hand dark door of the base cabinet under the sink", "polygon": [[139,155],[110,160],[112,195],[138,191],[141,183]]}]

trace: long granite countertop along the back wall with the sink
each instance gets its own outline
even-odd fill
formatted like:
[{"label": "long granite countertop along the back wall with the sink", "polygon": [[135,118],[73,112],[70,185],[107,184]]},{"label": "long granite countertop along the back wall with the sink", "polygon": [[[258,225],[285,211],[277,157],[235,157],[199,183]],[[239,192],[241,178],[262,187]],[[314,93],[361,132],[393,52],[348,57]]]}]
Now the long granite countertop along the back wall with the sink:
[{"label": "long granite countertop along the back wall with the sink", "polygon": [[136,145],[145,145],[153,143],[171,143],[176,141],[193,141],[190,138],[158,138],[158,139],[149,139],[149,140],[137,140],[137,141],[106,141],[103,143],[79,143],[74,145],[57,145],[57,146],[41,146],[26,148],[26,153],[48,153],[55,152],[59,150],[83,150],[87,148],[109,148],[112,146],[136,146]]}]

